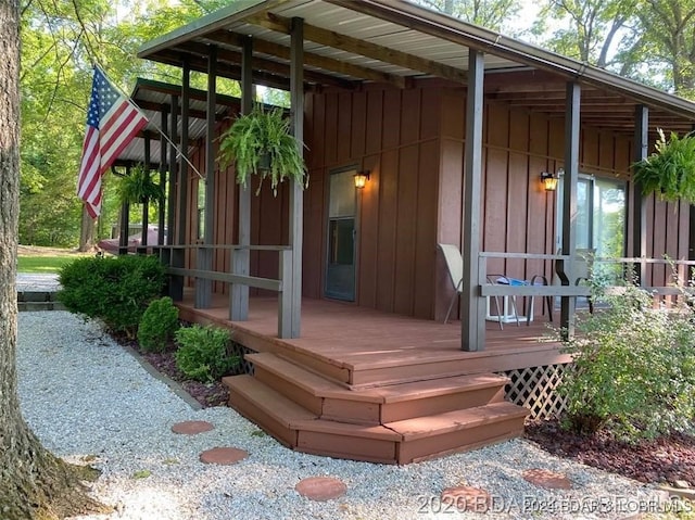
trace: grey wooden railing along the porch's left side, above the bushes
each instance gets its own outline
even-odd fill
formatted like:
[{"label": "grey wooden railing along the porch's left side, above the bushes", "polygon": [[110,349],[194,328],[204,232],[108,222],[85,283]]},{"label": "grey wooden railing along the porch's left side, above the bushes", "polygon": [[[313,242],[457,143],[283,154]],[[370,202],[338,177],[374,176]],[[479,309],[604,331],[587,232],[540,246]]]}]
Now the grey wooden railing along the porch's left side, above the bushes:
[{"label": "grey wooden railing along the porch's left side, above the bushes", "polygon": [[[195,280],[211,280],[227,283],[229,287],[229,319],[235,316],[233,302],[231,299],[233,286],[245,286],[255,289],[265,289],[278,293],[278,338],[291,337],[291,295],[292,295],[292,249],[289,245],[235,245],[235,244],[186,244],[186,245],[157,245],[154,250],[160,251],[160,258],[166,264],[166,274],[178,277],[190,277]],[[230,251],[229,270],[207,270],[207,269],[190,269],[185,267],[172,266],[170,259],[177,254],[182,255],[187,250],[198,252],[199,261],[202,254],[212,254],[215,251]],[[278,278],[263,278],[250,275],[240,275],[235,272],[236,265],[235,253],[240,251],[269,251],[278,254]],[[198,290],[198,288],[197,288]],[[247,303],[248,305],[248,303]],[[245,314],[245,313],[244,313]],[[233,319],[240,320],[235,317]]]}]

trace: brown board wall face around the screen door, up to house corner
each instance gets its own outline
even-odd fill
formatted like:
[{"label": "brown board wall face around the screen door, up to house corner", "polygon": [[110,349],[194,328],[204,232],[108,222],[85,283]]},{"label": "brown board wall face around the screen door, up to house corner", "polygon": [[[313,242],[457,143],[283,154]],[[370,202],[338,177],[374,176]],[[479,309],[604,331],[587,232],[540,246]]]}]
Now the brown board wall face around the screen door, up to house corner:
[{"label": "brown board wall face around the screen door, up to house corner", "polygon": [[328,176],[354,166],[370,170],[356,193],[356,303],[432,316],[439,106],[439,91],[426,88],[307,96],[306,296],[324,294]]}]

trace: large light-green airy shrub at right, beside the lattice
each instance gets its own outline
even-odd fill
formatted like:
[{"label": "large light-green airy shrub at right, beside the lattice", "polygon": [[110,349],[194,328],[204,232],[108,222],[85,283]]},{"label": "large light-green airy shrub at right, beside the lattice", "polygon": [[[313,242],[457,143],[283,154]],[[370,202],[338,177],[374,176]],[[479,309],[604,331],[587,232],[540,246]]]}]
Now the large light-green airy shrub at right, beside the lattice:
[{"label": "large light-green airy shrub at right, beside the lattice", "polygon": [[577,318],[577,334],[565,343],[574,362],[559,388],[564,424],[631,443],[692,428],[693,309],[654,308],[653,296],[634,286],[603,301],[605,308]]}]

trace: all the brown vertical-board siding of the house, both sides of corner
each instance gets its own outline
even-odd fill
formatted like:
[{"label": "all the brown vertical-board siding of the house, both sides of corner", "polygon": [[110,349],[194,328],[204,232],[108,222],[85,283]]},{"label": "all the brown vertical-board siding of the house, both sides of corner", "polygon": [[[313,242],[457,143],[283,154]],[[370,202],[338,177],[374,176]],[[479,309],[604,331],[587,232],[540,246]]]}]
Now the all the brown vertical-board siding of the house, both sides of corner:
[{"label": "all the brown vertical-board siding of the house, both sides of corner", "polygon": [[[358,214],[355,304],[420,318],[442,319],[452,294],[438,242],[462,243],[465,88],[424,81],[410,89],[370,86],[361,91],[307,93],[305,152],[309,186],[304,194],[304,274],[307,297],[324,297],[328,176],[345,167],[370,170],[356,192]],[[222,127],[218,131],[222,130]],[[564,121],[486,102],[483,128],[483,251],[554,253],[555,193],[546,193],[541,172],[563,166]],[[629,178],[630,139],[582,128],[580,172]],[[204,149],[192,155],[204,172]],[[238,189],[233,169],[216,170],[215,242],[237,240]],[[197,185],[189,173],[191,243],[197,236]],[[288,196],[252,186],[252,244],[288,242]],[[629,198],[631,199],[631,198]],[[631,221],[631,210],[628,221]],[[647,255],[687,257],[688,206],[648,199]],[[627,230],[630,254],[631,230]],[[189,258],[194,265],[194,258]],[[215,268],[227,270],[229,253]],[[252,254],[251,272],[276,277],[274,252]],[[552,280],[552,263],[491,261],[488,272]],[[665,284],[656,267],[648,283]],[[216,283],[217,292],[226,291]],[[540,305],[536,305],[540,312]]]}]

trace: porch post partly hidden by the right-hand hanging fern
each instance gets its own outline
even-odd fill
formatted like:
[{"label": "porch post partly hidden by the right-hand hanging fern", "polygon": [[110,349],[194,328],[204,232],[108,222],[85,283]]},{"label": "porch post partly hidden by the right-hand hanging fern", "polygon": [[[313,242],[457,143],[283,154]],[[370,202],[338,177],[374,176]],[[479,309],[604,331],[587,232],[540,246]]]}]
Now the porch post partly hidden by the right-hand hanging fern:
[{"label": "porch post partly hidden by the right-hand hanging fern", "polygon": [[[634,107],[634,156],[636,163],[647,156],[649,148],[649,109],[643,104]],[[632,181],[632,253],[641,258],[647,253],[647,205],[642,194],[642,185]],[[642,263],[633,270],[634,282],[642,286],[646,280],[647,265]]]}]

